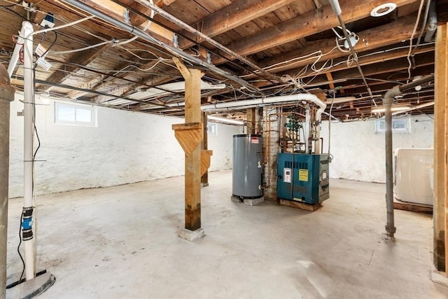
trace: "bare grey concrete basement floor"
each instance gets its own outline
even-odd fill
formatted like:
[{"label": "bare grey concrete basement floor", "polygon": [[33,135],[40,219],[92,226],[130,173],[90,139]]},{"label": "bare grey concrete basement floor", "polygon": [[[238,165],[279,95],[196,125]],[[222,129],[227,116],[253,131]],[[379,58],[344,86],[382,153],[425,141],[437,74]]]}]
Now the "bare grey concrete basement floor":
[{"label": "bare grey concrete basement floor", "polygon": [[[332,180],[309,212],[230,201],[232,172],[209,174],[196,242],[183,228],[183,177],[38,197],[39,298],[448,298],[430,280],[432,218],[395,211],[385,186]],[[22,199],[10,200],[8,283],[18,280]]]}]

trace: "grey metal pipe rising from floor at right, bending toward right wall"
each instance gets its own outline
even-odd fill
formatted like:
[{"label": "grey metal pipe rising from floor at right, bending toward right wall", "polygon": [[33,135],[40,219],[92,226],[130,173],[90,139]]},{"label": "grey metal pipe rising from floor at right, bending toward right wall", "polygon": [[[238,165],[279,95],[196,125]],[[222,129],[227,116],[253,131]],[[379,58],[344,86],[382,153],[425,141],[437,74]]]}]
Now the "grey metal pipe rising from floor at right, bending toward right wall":
[{"label": "grey metal pipe rising from floor at right, bending toward right wall", "polygon": [[385,148],[386,148],[386,210],[387,210],[387,223],[386,223],[386,237],[393,240],[396,228],[393,216],[393,151],[392,151],[392,103],[395,96],[402,94],[405,90],[409,90],[418,85],[428,83],[434,80],[434,74],[425,76],[419,80],[412,81],[404,85],[397,85],[384,95],[383,104],[386,111],[384,117],[386,121],[385,136]]}]

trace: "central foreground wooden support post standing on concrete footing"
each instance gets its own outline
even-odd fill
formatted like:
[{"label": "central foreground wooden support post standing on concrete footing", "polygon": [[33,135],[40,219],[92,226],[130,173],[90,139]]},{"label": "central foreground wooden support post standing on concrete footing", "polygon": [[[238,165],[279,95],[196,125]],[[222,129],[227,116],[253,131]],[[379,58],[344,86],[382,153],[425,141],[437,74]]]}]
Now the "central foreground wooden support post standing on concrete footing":
[{"label": "central foreground wooden support post standing on concrete footing", "polygon": [[[177,58],[173,58],[176,67],[185,78],[185,122],[201,123],[201,71],[187,69]],[[201,140],[203,137],[200,128]],[[200,142],[185,157],[185,228],[198,230],[201,228],[201,146]]]}]

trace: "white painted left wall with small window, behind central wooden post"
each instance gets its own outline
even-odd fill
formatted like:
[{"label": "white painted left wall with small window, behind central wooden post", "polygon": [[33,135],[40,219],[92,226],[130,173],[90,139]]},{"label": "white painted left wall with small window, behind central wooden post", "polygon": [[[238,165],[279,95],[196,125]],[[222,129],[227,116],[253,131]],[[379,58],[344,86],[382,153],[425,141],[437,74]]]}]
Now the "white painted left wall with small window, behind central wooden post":
[{"label": "white painted left wall with small window, behind central wooden post", "polygon": [[[9,196],[23,195],[23,104],[11,103]],[[97,106],[97,127],[54,123],[54,102],[36,107],[41,148],[36,160],[36,193],[115,186],[180,176],[184,154],[172,124],[183,118],[154,116]],[[240,129],[218,125],[209,135],[210,171],[232,168],[232,135]]]}]

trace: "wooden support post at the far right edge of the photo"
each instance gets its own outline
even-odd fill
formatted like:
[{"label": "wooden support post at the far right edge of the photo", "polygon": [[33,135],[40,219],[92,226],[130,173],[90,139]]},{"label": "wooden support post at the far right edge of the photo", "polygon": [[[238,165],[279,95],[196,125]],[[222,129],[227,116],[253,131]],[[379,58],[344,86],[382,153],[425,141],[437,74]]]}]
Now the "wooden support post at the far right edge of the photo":
[{"label": "wooden support post at the far right edge of the photo", "polygon": [[437,27],[435,41],[435,123],[434,123],[434,265],[436,270],[447,273],[447,25]]}]

